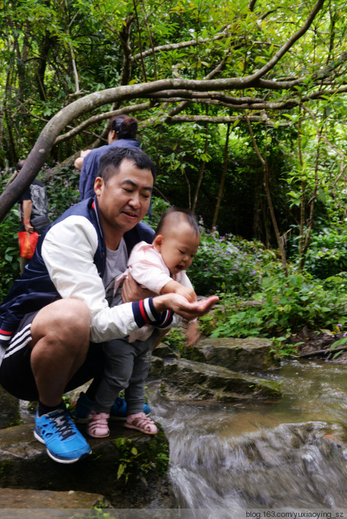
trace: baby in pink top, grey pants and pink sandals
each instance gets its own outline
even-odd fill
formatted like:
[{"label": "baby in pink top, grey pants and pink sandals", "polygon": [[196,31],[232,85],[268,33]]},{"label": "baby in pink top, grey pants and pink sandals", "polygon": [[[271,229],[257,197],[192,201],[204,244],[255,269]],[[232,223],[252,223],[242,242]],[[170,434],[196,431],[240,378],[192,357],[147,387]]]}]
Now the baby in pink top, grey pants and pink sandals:
[{"label": "baby in pink top, grey pants and pink sandals", "polygon": [[[133,247],[128,259],[128,270],[115,280],[118,289],[121,280],[130,273],[142,287],[155,293],[179,293],[189,300],[196,300],[196,293],[185,271],[192,264],[198,250],[200,232],[195,216],[186,210],[171,207],[162,216],[155,231],[153,244],[140,241]],[[175,316],[174,323],[183,321]],[[155,423],[142,411],[144,384],[151,363],[151,350],[156,342],[153,334],[160,337],[151,326],[140,328],[126,339],[108,341],[104,344],[105,375],[95,396],[94,414],[87,425],[90,436],[108,436],[110,408],[121,389],[126,390],[128,416],[125,427],[144,434],[156,434]],[[196,320],[188,323],[188,343],[198,339]]]}]

